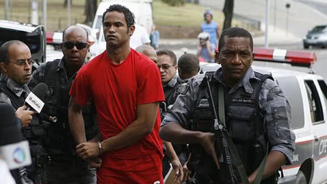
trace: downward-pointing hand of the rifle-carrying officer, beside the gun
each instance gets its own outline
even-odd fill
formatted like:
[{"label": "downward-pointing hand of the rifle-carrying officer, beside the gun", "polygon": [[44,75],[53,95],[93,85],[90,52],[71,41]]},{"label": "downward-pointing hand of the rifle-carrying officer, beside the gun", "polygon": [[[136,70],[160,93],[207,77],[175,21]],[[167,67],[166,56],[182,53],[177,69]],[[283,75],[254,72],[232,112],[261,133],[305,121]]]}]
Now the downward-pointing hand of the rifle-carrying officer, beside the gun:
[{"label": "downward-pointing hand of the rifle-carrying officer, beside the gun", "polygon": [[201,136],[199,136],[199,139],[200,139],[200,144],[203,147],[203,149],[209,155],[211,155],[217,168],[220,169],[220,165],[219,165],[218,158],[216,155],[216,150],[215,150],[215,134],[210,133],[210,132],[202,132]]}]

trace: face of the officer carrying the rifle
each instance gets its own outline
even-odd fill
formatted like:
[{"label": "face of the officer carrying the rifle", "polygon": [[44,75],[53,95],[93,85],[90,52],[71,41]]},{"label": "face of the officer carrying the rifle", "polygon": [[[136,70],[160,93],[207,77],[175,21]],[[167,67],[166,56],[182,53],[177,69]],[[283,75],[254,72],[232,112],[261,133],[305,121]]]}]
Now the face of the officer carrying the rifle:
[{"label": "face of the officer carrying the rifle", "polygon": [[221,64],[224,81],[235,84],[247,72],[253,61],[250,38],[225,37],[217,60]]}]

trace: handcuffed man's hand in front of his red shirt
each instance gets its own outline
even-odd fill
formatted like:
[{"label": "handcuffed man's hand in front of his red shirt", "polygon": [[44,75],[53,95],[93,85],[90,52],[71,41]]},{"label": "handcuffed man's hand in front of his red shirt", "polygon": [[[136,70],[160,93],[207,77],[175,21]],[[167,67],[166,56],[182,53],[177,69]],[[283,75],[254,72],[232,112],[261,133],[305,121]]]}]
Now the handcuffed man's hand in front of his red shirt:
[{"label": "handcuffed man's hand in front of his red shirt", "polygon": [[77,155],[87,160],[88,158],[94,158],[99,156],[98,143],[94,142],[84,142],[76,146]]}]

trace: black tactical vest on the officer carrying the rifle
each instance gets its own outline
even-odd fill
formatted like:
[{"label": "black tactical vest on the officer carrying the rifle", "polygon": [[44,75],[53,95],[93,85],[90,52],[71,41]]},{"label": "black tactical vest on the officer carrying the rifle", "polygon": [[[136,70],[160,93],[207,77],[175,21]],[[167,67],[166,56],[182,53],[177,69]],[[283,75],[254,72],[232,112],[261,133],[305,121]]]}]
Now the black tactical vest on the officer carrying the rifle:
[{"label": "black tactical vest on the officer carrying the rifle", "polygon": [[[209,74],[209,73],[208,73]],[[207,73],[206,73],[207,75]],[[209,74],[209,75],[212,75]],[[233,94],[228,94],[224,87],[226,128],[233,140],[238,155],[242,161],[247,175],[257,169],[266,155],[267,138],[264,134],[263,115],[259,107],[259,94],[263,82],[269,75],[256,73],[259,79],[250,79],[254,91],[248,94],[244,87],[239,87]],[[218,81],[209,77],[213,101],[218,109]],[[222,85],[222,84],[220,84]],[[192,130],[201,132],[213,132],[214,116],[210,108],[210,102],[203,89],[200,91],[200,103],[193,114]],[[211,158],[201,145],[191,145],[192,158],[189,167],[198,173],[200,183],[225,183],[224,171],[217,170]],[[241,182],[237,169],[233,168],[239,182]],[[262,183],[277,183],[278,175],[273,175]]]}]

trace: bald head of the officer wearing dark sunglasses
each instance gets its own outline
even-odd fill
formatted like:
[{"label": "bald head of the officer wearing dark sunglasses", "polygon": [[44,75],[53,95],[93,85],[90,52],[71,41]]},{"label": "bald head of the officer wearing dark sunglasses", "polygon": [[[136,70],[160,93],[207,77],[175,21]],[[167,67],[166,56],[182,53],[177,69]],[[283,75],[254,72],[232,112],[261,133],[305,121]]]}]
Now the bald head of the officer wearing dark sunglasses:
[{"label": "bald head of the officer wearing dark sunglasses", "polygon": [[77,26],[67,28],[61,49],[67,67],[83,64],[89,49],[86,31]]}]

